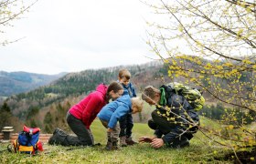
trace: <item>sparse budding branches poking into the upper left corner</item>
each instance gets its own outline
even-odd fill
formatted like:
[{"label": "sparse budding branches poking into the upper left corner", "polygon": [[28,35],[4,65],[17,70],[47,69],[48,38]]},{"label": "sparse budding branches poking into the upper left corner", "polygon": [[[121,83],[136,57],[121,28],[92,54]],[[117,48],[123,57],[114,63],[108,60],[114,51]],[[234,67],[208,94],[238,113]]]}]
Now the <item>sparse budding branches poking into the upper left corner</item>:
[{"label": "sparse budding branches poking into the upper left corner", "polygon": [[[5,33],[5,28],[7,26],[12,26],[11,23],[21,18],[25,12],[28,12],[28,9],[34,5],[37,0],[33,1],[23,1],[23,0],[1,0],[0,1],[0,34]],[[3,38],[3,37],[2,37]],[[0,40],[0,45],[5,46],[9,43],[16,42],[19,39],[14,41]]]}]

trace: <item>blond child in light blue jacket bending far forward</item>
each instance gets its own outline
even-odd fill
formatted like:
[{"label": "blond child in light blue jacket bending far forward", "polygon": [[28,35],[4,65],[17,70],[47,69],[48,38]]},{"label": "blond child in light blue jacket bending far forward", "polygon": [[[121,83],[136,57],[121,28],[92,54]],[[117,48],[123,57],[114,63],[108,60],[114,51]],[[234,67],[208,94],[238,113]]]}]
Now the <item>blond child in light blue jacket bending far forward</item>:
[{"label": "blond child in light blue jacket bending far forward", "polygon": [[129,97],[124,95],[117,98],[115,101],[103,107],[97,115],[100,118],[102,125],[107,129],[107,146],[106,149],[118,149],[118,137],[120,127],[118,121],[128,113],[141,112],[143,108],[143,100],[139,97]]}]

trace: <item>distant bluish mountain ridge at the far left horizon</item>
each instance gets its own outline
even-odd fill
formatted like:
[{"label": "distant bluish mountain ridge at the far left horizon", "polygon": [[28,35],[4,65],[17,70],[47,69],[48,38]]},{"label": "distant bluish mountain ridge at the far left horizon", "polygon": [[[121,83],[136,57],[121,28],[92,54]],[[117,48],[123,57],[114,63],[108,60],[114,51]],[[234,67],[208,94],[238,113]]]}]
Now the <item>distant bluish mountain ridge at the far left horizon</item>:
[{"label": "distant bluish mountain ridge at the far left horizon", "polygon": [[45,86],[67,73],[57,75],[35,74],[29,72],[0,71],[0,97],[9,97]]}]

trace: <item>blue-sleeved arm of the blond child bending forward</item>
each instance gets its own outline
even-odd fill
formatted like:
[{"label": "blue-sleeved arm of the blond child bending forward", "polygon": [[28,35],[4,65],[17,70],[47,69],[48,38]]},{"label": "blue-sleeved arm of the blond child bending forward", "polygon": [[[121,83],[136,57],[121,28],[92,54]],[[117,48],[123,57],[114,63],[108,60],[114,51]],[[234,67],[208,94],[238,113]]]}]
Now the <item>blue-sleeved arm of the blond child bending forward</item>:
[{"label": "blue-sleeved arm of the blond child bending forward", "polygon": [[112,117],[109,121],[108,127],[114,128],[117,121],[127,113],[129,113],[129,107],[127,105],[118,106],[118,108],[116,108],[112,114]]}]

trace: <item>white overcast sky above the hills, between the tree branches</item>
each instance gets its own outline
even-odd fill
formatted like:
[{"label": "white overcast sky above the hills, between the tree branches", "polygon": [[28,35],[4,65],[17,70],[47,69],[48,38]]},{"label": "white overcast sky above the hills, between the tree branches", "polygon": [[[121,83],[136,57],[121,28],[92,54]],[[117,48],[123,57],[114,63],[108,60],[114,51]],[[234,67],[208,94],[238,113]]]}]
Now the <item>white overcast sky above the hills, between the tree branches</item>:
[{"label": "white overcast sky above the hills, between the tree branches", "polygon": [[5,29],[0,70],[54,75],[143,64],[149,8],[140,0],[39,0]]}]

